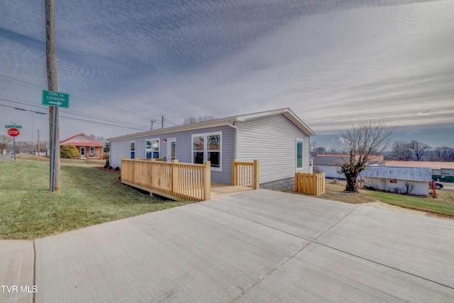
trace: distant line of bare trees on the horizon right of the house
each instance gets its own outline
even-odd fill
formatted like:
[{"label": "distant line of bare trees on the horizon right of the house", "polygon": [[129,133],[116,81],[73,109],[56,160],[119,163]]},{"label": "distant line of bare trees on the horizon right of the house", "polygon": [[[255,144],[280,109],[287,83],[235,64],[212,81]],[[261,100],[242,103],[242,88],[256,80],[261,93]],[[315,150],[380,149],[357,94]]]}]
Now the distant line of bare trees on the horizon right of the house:
[{"label": "distant line of bare trees on the horizon right of the house", "polygon": [[[346,155],[347,150],[341,150],[338,146],[331,146],[326,149],[317,146],[317,142],[311,142],[311,155]],[[395,141],[390,145],[389,150],[382,151],[385,160],[399,161],[454,161],[454,148],[447,145],[431,147],[426,143],[416,140]]]}]

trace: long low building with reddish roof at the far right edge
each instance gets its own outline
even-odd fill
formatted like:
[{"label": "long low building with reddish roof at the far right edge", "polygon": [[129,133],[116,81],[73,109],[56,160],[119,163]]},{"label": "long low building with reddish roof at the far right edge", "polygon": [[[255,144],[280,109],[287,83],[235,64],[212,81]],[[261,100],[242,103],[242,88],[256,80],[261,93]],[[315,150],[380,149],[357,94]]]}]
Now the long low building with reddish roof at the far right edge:
[{"label": "long low building with reddish roof at the far right edge", "polygon": [[431,169],[433,180],[441,182],[454,182],[454,162],[387,160],[385,166],[426,167]]}]

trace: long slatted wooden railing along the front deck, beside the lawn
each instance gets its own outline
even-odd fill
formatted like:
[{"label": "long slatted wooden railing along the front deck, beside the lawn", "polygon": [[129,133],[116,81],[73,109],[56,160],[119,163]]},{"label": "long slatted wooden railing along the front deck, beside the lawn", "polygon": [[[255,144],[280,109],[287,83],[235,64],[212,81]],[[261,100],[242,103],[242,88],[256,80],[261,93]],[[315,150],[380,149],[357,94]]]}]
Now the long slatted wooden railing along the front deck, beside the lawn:
[{"label": "long slatted wooden railing along the front deck, beside the lawn", "polygon": [[121,182],[170,199],[204,201],[211,196],[211,163],[121,159]]}]

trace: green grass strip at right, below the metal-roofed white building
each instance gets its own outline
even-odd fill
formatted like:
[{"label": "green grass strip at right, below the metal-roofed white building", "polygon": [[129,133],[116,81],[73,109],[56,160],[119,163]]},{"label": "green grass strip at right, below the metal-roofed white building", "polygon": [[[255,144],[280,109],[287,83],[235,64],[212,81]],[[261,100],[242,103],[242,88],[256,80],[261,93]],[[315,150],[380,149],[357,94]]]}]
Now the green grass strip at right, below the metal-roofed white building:
[{"label": "green grass strip at right, below the metal-roofed white building", "polygon": [[[441,191],[438,191],[438,193],[440,192]],[[380,202],[387,204],[454,216],[454,199],[449,195],[445,195],[446,198],[443,199],[433,199],[431,197],[416,197],[404,194],[388,194],[386,192],[367,191],[366,194],[367,196],[374,197]]]}]

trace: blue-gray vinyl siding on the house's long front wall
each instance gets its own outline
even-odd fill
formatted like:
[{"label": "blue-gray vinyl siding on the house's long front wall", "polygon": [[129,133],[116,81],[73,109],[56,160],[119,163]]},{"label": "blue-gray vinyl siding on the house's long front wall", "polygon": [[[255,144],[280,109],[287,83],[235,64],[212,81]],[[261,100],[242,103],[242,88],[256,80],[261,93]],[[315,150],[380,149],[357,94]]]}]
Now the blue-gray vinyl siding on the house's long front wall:
[{"label": "blue-gray vinyl siding on the house's long front wall", "polygon": [[211,181],[231,184],[231,161],[235,151],[235,130],[230,126],[218,126],[212,128],[202,128],[191,131],[179,131],[153,136],[140,134],[133,135],[135,138],[127,138],[118,141],[111,141],[111,166],[121,167],[121,158],[130,158],[129,143],[135,141],[135,158],[145,158],[145,141],[148,139],[160,138],[160,158],[167,157],[167,143],[162,143],[163,139],[177,139],[177,159],[179,162],[192,162],[192,135],[199,133],[222,132],[221,157],[222,171],[211,170]]}]

